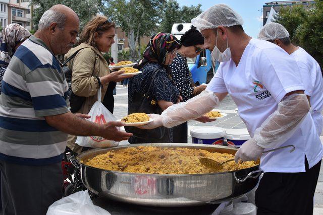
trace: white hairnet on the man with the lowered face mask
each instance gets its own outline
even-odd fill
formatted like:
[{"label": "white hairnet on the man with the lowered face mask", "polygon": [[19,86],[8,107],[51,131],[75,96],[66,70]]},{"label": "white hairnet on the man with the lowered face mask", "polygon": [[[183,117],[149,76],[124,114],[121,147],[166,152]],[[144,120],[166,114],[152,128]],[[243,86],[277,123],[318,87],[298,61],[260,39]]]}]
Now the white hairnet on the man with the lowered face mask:
[{"label": "white hairnet on the man with the lowered face mask", "polygon": [[207,11],[204,11],[192,19],[192,25],[200,31],[204,29],[218,28],[218,26],[230,27],[242,24],[242,17],[229,6],[224,4],[214,5]]}]

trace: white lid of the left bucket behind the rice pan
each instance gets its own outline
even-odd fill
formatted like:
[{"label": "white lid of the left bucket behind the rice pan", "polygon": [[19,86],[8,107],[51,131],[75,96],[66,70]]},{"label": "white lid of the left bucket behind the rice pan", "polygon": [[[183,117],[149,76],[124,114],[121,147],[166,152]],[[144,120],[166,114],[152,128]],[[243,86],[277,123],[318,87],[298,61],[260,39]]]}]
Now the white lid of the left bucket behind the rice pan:
[{"label": "white lid of the left bucket behind the rice pan", "polygon": [[221,138],[225,135],[225,129],[222,127],[202,127],[191,130],[191,136],[200,139]]}]

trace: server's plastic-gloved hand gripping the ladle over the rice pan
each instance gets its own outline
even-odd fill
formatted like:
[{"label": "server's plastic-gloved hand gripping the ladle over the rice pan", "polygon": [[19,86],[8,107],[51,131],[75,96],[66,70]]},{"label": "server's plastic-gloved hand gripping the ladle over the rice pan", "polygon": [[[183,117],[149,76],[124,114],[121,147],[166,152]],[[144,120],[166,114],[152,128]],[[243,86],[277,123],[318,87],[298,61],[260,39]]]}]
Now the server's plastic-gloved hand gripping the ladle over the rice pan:
[{"label": "server's plastic-gloved hand gripping the ladle over the rice pan", "polygon": [[234,156],[234,161],[236,163],[241,161],[256,161],[260,158],[261,153],[263,152],[263,148],[257,145],[257,142],[251,138],[242,144],[240,149],[236,152]]}]

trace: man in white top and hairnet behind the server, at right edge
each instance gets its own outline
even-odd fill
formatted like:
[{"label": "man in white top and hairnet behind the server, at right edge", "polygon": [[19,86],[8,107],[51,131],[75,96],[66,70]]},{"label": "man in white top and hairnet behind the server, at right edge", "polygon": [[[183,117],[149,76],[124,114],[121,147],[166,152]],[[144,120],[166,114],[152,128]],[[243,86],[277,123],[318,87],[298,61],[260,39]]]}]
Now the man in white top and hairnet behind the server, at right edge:
[{"label": "man in white top and hairnet behind the server, at right edge", "polygon": [[268,23],[262,27],[258,39],[275,43],[297,62],[301,79],[305,87],[305,94],[310,96],[311,115],[315,123],[317,134],[320,135],[323,126],[323,78],[316,60],[301,47],[294,46],[289,33],[279,23]]}]

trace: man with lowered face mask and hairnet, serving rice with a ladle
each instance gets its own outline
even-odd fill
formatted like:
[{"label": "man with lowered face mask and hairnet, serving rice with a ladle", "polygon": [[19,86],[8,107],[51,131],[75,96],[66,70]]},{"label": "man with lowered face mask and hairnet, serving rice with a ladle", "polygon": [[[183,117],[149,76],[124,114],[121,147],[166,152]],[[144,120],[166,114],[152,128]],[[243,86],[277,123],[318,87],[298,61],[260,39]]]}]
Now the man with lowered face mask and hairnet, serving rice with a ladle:
[{"label": "man with lowered face mask and hairnet, serving rice with a ladle", "polygon": [[[220,64],[200,95],[173,105],[141,126],[173,127],[198,118],[231,95],[249,131],[235,161],[261,159],[264,175],[256,191],[257,214],[311,214],[322,146],[295,60],[277,45],[249,37],[242,18],[227,5],[215,5],[192,20],[204,48]],[[264,149],[294,145],[262,155]]]}]

